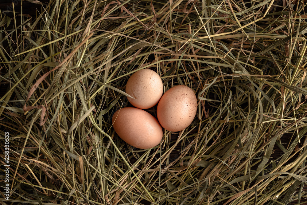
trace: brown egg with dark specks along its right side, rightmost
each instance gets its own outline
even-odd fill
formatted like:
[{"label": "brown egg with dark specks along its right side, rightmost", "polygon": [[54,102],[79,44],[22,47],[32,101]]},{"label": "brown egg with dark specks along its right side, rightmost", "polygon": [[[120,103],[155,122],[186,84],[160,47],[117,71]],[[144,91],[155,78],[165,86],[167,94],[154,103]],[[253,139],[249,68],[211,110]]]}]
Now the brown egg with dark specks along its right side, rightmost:
[{"label": "brown egg with dark specks along its right side, rightmost", "polygon": [[162,127],[177,132],[187,128],[194,120],[197,99],[192,89],[177,85],[161,97],[157,107],[157,117]]}]

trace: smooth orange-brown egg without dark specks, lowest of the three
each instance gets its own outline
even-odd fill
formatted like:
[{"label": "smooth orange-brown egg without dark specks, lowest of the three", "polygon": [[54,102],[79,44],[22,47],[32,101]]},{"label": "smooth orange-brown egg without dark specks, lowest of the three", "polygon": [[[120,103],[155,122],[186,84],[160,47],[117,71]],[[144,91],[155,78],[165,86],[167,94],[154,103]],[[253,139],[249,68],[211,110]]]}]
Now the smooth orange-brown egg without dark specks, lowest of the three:
[{"label": "smooth orange-brown egg without dark specks, lowest of the three", "polygon": [[140,149],[153,148],[162,139],[158,120],[139,108],[121,108],[112,117],[115,132],[126,143]]}]

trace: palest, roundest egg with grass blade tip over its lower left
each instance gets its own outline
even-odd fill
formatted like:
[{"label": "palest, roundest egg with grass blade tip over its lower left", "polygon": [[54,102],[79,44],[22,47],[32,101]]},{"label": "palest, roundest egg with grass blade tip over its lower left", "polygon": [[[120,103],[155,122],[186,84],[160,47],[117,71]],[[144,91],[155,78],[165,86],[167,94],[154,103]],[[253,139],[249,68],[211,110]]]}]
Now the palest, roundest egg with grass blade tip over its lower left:
[{"label": "palest, roundest egg with grass blade tip over its lower left", "polygon": [[157,104],[163,94],[163,84],[159,75],[150,69],[135,72],[126,84],[128,101],[137,108],[147,109]]}]

